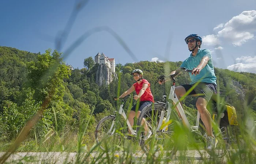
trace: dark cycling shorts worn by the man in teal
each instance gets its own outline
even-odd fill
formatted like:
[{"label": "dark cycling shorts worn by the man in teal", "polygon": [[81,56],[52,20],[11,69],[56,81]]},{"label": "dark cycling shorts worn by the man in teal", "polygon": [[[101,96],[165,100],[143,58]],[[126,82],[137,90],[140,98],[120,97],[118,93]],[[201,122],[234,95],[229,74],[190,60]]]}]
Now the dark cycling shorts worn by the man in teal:
[{"label": "dark cycling shorts worn by the man in teal", "polygon": [[203,97],[207,100],[207,102],[210,101],[212,94],[217,92],[217,85],[213,83],[203,83],[200,82],[198,84],[185,84],[181,85],[185,88],[186,92],[193,86],[196,85],[195,88],[188,94],[188,95],[197,95],[198,97]]}]

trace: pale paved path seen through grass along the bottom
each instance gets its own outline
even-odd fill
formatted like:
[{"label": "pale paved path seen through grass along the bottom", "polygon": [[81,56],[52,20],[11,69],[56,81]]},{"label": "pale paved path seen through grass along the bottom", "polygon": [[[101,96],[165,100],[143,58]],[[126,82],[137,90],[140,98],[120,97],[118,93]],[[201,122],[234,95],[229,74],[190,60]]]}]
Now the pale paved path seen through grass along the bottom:
[{"label": "pale paved path seen through grass along the bottom", "polygon": [[[10,163],[75,163],[77,153],[67,153],[67,152],[23,152],[23,153],[14,153],[12,154],[6,162]],[[90,158],[93,159],[93,157],[98,157],[100,153],[93,152],[90,154]],[[143,162],[143,160],[146,159],[146,155],[143,152],[137,151],[137,152],[129,152],[131,156],[135,159],[138,159],[138,162]],[[186,163],[202,163],[202,157],[201,154],[204,156],[205,159],[210,159],[210,156],[205,151],[196,151],[196,150],[190,150],[190,151],[183,151],[183,152],[177,152],[176,156],[173,157],[172,161],[170,163],[180,163],[182,160],[189,160]],[[0,152],[0,157],[4,155],[4,152]],[[113,155],[113,154],[112,154]],[[117,159],[120,156],[123,156],[123,152],[114,152],[114,158]],[[82,157],[85,156],[85,154],[82,155]],[[105,157],[106,154],[103,155]]]}]

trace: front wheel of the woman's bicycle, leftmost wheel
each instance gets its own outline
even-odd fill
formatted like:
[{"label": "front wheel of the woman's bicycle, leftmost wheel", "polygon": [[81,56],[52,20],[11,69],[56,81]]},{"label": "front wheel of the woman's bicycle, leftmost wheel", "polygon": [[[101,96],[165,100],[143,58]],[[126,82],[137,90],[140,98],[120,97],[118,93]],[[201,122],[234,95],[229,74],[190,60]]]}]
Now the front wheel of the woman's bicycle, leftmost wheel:
[{"label": "front wheel of the woman's bicycle, leftmost wheel", "polygon": [[99,121],[95,130],[95,139],[103,151],[111,151],[121,144],[123,124],[114,116],[106,116]]}]

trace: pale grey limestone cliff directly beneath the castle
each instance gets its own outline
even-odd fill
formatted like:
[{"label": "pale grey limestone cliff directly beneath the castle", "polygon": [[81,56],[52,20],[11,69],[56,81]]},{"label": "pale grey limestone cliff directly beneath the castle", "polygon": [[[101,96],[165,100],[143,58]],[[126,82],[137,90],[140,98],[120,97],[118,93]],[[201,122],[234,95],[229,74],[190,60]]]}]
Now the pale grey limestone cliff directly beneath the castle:
[{"label": "pale grey limestone cliff directly beneath the castle", "polygon": [[101,64],[98,66],[95,82],[99,86],[103,85],[103,83],[109,85],[109,83],[112,82],[113,79],[117,79],[117,74],[112,73],[112,70],[108,66],[106,66],[105,64]]}]

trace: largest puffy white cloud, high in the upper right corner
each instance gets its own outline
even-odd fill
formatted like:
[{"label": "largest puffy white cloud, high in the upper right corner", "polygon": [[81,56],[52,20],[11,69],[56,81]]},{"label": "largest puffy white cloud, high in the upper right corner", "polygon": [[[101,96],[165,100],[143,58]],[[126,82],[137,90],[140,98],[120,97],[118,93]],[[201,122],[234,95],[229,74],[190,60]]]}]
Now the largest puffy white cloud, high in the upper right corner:
[{"label": "largest puffy white cloud, high in the upper right corner", "polygon": [[[214,29],[218,29],[217,27]],[[218,31],[217,36],[231,41],[234,46],[241,46],[248,40],[253,39],[255,31],[256,10],[243,11],[240,15],[232,17],[225,23],[223,29]]]}]

